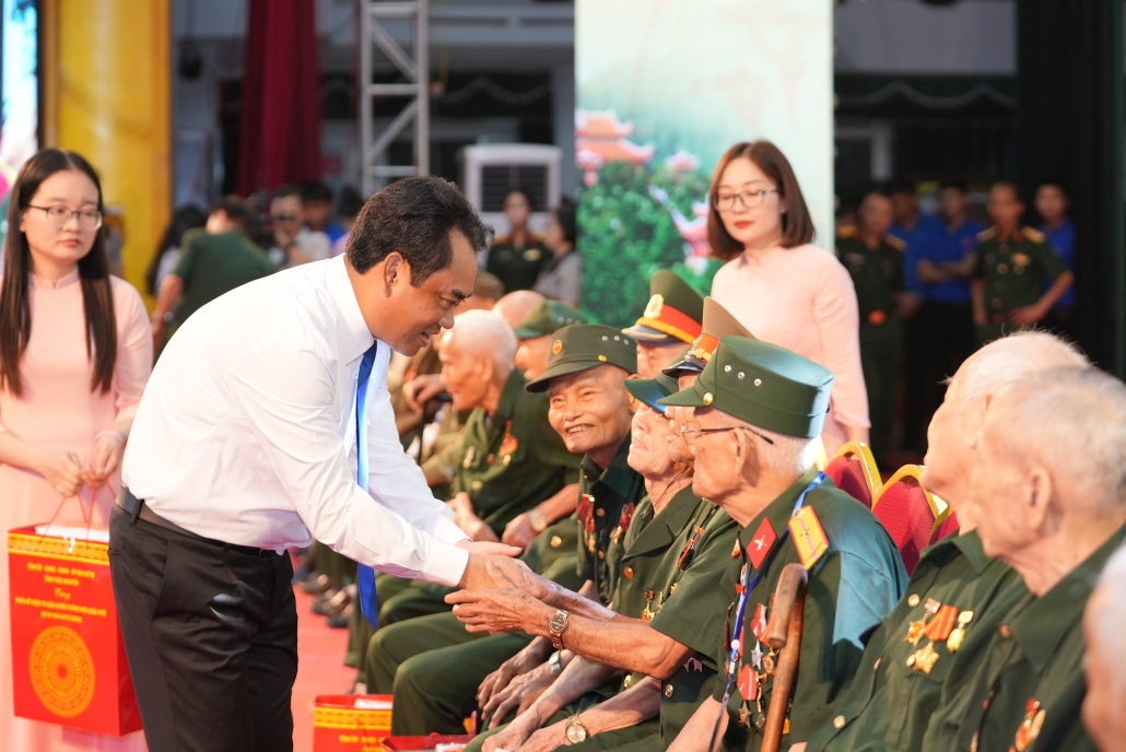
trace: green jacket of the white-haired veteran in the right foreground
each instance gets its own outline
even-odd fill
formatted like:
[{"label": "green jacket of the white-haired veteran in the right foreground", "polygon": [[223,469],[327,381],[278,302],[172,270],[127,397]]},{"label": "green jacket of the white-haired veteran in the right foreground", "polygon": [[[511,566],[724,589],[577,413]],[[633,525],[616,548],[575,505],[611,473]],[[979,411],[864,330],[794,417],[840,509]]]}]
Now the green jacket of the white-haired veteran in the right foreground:
[{"label": "green jacket of the white-haired veteran in the right foreground", "polygon": [[1052,590],[1021,598],[990,635],[968,691],[945,709],[928,733],[929,750],[1091,750],[1080,707],[1083,679],[1083,608],[1126,527]]}]

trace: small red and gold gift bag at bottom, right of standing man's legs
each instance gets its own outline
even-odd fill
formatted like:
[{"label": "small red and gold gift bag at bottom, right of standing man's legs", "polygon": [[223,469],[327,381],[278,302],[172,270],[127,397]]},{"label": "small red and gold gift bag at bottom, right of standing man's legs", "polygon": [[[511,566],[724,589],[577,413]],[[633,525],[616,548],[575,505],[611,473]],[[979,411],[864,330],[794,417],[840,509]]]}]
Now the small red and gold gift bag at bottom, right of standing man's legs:
[{"label": "small red and gold gift bag at bottom, right of standing man's legs", "polygon": [[385,752],[391,706],[391,695],[318,695],[313,752]]}]

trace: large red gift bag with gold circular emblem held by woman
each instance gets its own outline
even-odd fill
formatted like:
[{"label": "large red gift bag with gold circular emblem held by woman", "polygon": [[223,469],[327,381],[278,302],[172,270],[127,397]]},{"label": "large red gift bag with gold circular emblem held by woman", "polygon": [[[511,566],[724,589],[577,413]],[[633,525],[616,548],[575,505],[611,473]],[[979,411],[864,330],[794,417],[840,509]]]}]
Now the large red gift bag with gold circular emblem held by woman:
[{"label": "large red gift bag with gold circular emblem held by woman", "polygon": [[[141,714],[117,623],[109,545],[98,531],[8,532],[16,715],[122,736]],[[100,537],[105,537],[101,531]]]}]

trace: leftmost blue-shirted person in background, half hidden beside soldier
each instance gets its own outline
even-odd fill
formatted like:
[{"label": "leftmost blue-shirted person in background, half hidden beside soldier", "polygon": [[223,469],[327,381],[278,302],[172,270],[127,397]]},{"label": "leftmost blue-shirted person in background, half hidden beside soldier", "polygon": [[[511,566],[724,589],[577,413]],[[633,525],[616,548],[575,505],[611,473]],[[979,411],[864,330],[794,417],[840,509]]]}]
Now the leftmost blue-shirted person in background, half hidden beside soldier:
[{"label": "leftmost blue-shirted person in background, half hidden beside soldier", "polygon": [[[928,405],[938,406],[941,395],[933,383],[927,382],[927,361],[933,350],[930,333],[919,314],[920,303],[927,290],[919,280],[919,261],[931,258],[936,247],[944,242],[942,222],[919,212],[918,196],[912,182],[900,182],[892,187],[892,209],[895,222],[887,234],[906,244],[903,252],[903,281],[909,294],[903,306],[903,379],[906,391],[903,401],[903,448],[910,451],[926,451],[923,428]],[[932,410],[931,410],[932,411]]]}]

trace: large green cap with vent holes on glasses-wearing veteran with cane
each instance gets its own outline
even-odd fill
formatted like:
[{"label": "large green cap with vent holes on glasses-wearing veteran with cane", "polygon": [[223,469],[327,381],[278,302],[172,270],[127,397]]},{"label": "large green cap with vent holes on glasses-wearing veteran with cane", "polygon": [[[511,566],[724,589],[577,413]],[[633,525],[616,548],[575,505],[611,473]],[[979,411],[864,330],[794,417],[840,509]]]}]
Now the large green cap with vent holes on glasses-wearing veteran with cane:
[{"label": "large green cap with vent holes on glasses-wearing veteran with cane", "polygon": [[715,408],[786,436],[812,439],[829,412],[832,373],[776,344],[724,337],[696,384],[664,405]]}]

